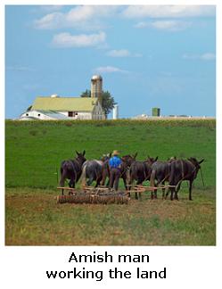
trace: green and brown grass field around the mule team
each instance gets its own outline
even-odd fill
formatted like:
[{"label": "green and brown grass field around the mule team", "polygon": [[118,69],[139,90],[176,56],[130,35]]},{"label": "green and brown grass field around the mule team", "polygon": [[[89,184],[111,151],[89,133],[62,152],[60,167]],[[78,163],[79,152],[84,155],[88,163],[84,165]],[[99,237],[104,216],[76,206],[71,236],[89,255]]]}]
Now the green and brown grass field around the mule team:
[{"label": "green and brown grass field around the mule team", "polygon": [[[86,150],[98,159],[114,149],[160,160],[204,158],[193,202],[187,184],[179,202],[127,205],[57,204],[62,160]],[[216,244],[215,120],[5,122],[5,244],[214,245]],[[120,184],[122,186],[122,183]]]}]

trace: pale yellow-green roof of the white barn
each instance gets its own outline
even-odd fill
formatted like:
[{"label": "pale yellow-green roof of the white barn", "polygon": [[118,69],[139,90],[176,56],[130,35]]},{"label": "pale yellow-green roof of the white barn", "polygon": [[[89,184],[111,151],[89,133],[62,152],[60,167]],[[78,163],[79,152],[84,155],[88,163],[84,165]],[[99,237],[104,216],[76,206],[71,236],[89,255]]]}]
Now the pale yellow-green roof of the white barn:
[{"label": "pale yellow-green roof of the white barn", "polygon": [[31,111],[93,111],[96,99],[91,97],[42,97],[38,96]]}]

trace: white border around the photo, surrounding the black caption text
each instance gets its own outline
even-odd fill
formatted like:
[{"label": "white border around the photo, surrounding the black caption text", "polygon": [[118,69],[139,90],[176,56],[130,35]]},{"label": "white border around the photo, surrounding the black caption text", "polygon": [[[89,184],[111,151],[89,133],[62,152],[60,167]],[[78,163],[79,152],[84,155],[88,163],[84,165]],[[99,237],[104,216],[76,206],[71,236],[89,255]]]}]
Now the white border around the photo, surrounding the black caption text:
[{"label": "white border around the photo, surrounding the black caption text", "polygon": [[[222,28],[222,8],[221,1],[106,1],[105,4],[217,4],[217,159],[221,161],[221,28]],[[4,76],[4,4],[45,4],[44,1],[2,1],[1,2],[1,63],[2,76]],[[104,4],[102,1],[47,1],[46,4]],[[2,77],[1,92],[1,136],[4,136],[4,77]],[[1,147],[1,160],[4,160],[4,140]],[[3,162],[3,161],[2,161]],[[219,162],[217,162],[219,163]],[[1,177],[4,180],[4,166],[1,166]],[[220,268],[221,268],[221,192],[220,178],[221,168],[217,165],[217,246],[216,247],[199,247],[199,246],[181,246],[181,247],[164,247],[164,246],[109,246],[109,247],[75,247],[75,246],[51,246],[51,247],[21,247],[21,246],[4,246],[4,214],[1,215],[1,247],[0,247],[0,262],[1,262],[1,279],[0,285],[2,288],[77,288],[80,286],[106,286],[112,288],[113,285],[132,285],[141,288],[194,288],[201,289],[213,287],[220,288]],[[1,182],[1,212],[4,212],[4,182]],[[106,278],[103,282],[95,282],[92,280],[47,280],[45,278],[46,269],[72,269],[68,259],[71,252],[86,253],[86,252],[103,253],[107,251],[113,255],[119,252],[125,253],[148,253],[151,257],[151,262],[146,267],[140,264],[141,268],[161,269],[167,267],[168,277],[166,280],[145,280],[145,279],[126,279],[126,280],[111,280]],[[80,264],[79,268],[84,267]],[[118,267],[122,270],[135,270],[135,264],[86,264],[88,269],[100,270],[103,268],[107,271],[108,268]]]}]

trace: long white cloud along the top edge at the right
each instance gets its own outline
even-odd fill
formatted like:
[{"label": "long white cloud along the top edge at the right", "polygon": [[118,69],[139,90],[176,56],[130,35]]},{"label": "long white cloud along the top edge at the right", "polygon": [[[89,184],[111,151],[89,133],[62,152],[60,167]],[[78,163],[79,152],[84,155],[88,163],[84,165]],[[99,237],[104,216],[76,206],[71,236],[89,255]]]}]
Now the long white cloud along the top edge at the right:
[{"label": "long white cloud along the top edge at the right", "polygon": [[215,16],[214,5],[131,5],[122,15],[127,18],[180,18]]}]

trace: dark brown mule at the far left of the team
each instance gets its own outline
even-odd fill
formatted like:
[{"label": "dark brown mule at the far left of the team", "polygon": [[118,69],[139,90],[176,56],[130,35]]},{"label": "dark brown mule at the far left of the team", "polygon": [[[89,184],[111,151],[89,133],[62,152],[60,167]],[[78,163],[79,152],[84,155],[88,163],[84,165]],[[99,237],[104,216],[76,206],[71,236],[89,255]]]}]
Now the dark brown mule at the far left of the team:
[{"label": "dark brown mule at the far left of the team", "polygon": [[[75,187],[76,183],[78,182],[78,179],[81,176],[82,173],[82,165],[86,161],[85,158],[85,150],[83,153],[77,153],[77,157],[74,160],[69,160],[69,161],[62,161],[61,164],[61,180],[60,180],[60,186],[64,186],[65,184],[65,179],[68,178],[70,179],[69,186],[70,187]],[[62,189],[62,194],[64,194],[63,189]]]}]

